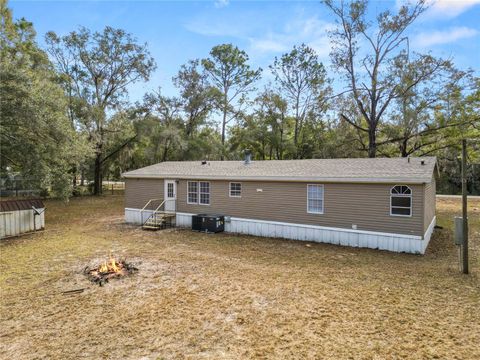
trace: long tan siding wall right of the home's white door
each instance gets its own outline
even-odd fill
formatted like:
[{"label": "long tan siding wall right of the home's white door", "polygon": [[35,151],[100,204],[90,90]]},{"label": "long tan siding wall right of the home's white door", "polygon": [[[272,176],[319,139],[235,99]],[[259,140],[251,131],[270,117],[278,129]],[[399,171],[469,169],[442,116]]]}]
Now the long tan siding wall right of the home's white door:
[{"label": "long tan siding wall right of the home's white door", "polygon": [[[324,213],[307,212],[307,183],[242,182],[242,197],[229,197],[229,181],[210,181],[210,205],[187,204],[187,180],[177,185],[177,211],[423,236],[424,186],[412,189],[412,216],[390,216],[394,184],[324,184]],[[321,184],[321,183],[320,183]],[[127,185],[128,187],[128,185]],[[257,191],[261,189],[262,191]]]}]

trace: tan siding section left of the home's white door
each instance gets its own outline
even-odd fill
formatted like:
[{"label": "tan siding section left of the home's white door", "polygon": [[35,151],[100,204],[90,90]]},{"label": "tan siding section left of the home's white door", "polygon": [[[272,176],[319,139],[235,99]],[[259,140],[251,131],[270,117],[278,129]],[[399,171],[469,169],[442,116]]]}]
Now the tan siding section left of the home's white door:
[{"label": "tan siding section left of the home's white door", "polygon": [[125,179],[125,207],[141,209],[150,199],[163,200],[163,192],[163,179]]}]

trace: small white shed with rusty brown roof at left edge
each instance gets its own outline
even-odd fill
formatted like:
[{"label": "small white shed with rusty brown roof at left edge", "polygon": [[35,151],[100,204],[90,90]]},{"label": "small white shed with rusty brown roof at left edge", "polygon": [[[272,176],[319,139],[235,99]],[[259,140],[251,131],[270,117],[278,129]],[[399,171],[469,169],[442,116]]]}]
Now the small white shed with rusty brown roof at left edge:
[{"label": "small white shed with rusty brown roof at left edge", "polygon": [[40,199],[0,201],[0,239],[45,228],[45,205]]}]

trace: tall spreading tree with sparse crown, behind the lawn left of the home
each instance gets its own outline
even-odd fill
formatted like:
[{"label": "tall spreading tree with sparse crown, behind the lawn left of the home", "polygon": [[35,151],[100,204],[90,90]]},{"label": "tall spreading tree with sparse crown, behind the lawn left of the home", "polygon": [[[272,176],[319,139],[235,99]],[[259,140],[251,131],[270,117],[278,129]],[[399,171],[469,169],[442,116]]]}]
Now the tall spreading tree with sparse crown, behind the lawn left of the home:
[{"label": "tall spreading tree with sparse crown, behind the lawn left of the home", "polygon": [[[57,71],[63,75],[66,94],[86,107],[80,122],[95,149],[94,194],[98,195],[102,192],[103,166],[119,151],[116,148],[107,153],[106,149],[109,136],[118,131],[109,128],[111,112],[122,105],[129,85],[149,79],[155,62],[146,44],[109,26],[101,32],[81,27],[66,36],[49,32],[46,42]],[[134,138],[125,139],[120,147]]]}]

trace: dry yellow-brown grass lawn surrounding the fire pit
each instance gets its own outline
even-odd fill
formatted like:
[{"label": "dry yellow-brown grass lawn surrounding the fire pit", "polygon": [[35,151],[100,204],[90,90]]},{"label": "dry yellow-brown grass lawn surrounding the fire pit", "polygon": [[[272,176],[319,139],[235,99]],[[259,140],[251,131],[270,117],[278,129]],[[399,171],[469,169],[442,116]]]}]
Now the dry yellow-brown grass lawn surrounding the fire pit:
[{"label": "dry yellow-brown grass lawn surrounding the fire pit", "polygon": [[[480,202],[472,274],[438,202],[425,256],[123,224],[123,198],[47,202],[47,229],[0,243],[2,359],[479,359]],[[113,252],[140,271],[82,274]],[[83,293],[62,291],[86,288]]]}]

